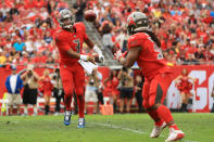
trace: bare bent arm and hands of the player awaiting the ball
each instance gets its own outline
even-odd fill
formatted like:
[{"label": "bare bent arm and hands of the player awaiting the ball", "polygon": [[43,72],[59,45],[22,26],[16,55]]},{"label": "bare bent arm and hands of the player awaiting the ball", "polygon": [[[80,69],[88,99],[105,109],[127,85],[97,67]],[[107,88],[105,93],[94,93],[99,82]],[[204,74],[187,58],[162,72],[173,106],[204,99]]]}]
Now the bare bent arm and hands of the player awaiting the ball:
[{"label": "bare bent arm and hands of the player awaiting the ball", "polygon": [[140,47],[135,47],[135,48],[131,48],[129,51],[128,51],[128,54],[126,57],[124,57],[123,55],[122,56],[118,56],[115,54],[115,59],[125,67],[131,67],[134,65],[134,63],[137,61],[138,59],[138,55],[140,53],[140,50],[141,48]]}]

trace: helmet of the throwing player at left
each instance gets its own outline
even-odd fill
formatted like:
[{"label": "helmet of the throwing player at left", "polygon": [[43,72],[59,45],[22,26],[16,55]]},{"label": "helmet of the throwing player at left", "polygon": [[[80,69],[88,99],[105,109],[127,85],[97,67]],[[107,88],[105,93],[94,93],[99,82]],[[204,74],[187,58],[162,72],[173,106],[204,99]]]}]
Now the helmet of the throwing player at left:
[{"label": "helmet of the throwing player at left", "polygon": [[[71,28],[74,25],[74,23],[75,23],[74,14],[67,9],[61,10],[60,13],[59,13],[59,17],[58,18],[59,18],[58,21],[60,23],[60,26],[62,28]],[[66,24],[64,23],[65,18],[70,20],[70,22],[66,23]]]}]

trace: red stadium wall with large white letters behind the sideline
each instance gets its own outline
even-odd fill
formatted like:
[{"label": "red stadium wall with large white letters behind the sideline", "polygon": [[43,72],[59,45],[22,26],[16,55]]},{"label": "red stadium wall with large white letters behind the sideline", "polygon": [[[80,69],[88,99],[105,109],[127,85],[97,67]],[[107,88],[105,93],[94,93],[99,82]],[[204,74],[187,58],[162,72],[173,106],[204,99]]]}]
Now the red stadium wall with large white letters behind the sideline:
[{"label": "red stadium wall with large white letters behind the sideline", "polygon": [[[196,108],[196,112],[207,113],[213,106],[214,99],[211,96],[214,87],[214,66],[213,65],[180,65],[173,66],[173,75],[176,78],[180,75],[184,68],[188,69],[189,76],[197,78],[198,81],[193,85],[191,93],[193,94],[194,105],[189,106],[190,109]],[[17,72],[23,72],[24,66],[17,66]],[[42,75],[45,68],[35,68],[35,70]],[[104,80],[110,73],[109,67],[99,67],[98,70],[102,73],[102,80]],[[5,90],[5,79],[11,74],[11,69],[7,67],[0,67],[0,99],[2,99]],[[175,87],[175,81],[172,82],[167,92],[167,107],[176,109],[180,107],[180,95],[178,89]],[[104,94],[106,95],[106,94]]]}]

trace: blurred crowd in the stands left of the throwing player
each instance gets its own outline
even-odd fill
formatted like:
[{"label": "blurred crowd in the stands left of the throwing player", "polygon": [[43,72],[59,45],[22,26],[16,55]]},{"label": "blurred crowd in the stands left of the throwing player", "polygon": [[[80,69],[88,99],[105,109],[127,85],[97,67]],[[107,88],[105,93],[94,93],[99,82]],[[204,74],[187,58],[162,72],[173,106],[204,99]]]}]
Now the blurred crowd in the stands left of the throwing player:
[{"label": "blurred crowd in the stands left of the throwing player", "polygon": [[0,4],[0,65],[58,63],[53,34],[62,0],[5,0]]}]

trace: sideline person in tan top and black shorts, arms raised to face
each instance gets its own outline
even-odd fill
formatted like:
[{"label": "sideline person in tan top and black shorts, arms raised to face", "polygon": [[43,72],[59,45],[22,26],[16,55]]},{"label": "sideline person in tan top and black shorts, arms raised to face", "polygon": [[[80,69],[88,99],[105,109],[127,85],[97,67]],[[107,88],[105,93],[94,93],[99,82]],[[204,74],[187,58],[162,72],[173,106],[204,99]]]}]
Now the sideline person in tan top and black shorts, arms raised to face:
[{"label": "sideline person in tan top and black shorts, arms raised to face", "polygon": [[34,115],[37,115],[37,94],[39,76],[34,72],[34,66],[28,65],[26,72],[21,76],[24,81],[23,104],[24,115],[28,115],[28,104],[34,105]]}]

